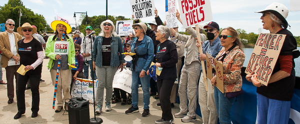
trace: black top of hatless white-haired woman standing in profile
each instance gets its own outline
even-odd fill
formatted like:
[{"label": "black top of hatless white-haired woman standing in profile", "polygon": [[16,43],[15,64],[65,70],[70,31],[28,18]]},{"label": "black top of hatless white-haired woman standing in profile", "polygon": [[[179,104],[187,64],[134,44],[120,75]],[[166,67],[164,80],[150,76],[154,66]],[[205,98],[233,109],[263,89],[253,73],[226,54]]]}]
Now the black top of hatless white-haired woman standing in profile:
[{"label": "black top of hatless white-haired woman standing in profile", "polygon": [[176,79],[177,61],[178,55],[175,43],[170,40],[159,43],[157,45],[156,62],[160,63],[162,71],[160,76],[157,76],[157,79]]}]

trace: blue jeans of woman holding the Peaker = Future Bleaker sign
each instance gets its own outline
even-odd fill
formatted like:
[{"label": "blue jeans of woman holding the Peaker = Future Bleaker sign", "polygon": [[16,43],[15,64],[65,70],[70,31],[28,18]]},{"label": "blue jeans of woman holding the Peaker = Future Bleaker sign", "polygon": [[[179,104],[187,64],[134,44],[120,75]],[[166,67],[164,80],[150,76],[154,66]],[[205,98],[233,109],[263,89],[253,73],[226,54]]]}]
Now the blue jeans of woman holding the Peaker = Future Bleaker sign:
[{"label": "blue jeans of woman holding the Peaker = Future Bleaker sign", "polygon": [[257,94],[257,124],[287,124],[289,113],[290,101],[268,99]]}]

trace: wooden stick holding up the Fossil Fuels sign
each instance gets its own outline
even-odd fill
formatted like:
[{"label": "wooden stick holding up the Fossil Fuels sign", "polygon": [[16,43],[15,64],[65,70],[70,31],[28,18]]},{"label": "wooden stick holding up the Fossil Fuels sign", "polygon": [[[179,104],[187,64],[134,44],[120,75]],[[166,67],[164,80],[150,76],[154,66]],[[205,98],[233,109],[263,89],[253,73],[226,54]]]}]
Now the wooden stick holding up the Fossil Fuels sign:
[{"label": "wooden stick holding up the Fossil Fuels sign", "polygon": [[[200,36],[200,33],[199,33],[199,26],[198,26],[198,24],[195,25],[195,26],[196,26],[196,33],[197,33],[198,43],[200,44],[200,47],[199,47],[199,54],[203,54],[203,51],[202,51],[202,44],[201,44],[201,36]],[[202,41],[202,42],[204,42],[204,41]],[[201,61],[201,66],[202,66],[202,73],[203,73],[203,78],[204,78],[205,90],[207,91],[207,77],[206,77],[206,72],[205,72],[205,64],[204,64],[204,61]]]}]

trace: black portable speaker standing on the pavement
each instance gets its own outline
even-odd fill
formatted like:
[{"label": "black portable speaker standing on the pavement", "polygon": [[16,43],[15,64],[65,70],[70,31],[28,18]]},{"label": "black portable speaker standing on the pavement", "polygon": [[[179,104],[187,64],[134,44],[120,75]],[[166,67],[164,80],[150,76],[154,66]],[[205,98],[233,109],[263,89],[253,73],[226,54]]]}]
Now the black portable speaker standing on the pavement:
[{"label": "black portable speaker standing on the pavement", "polygon": [[67,105],[69,124],[89,124],[88,101],[72,98]]}]

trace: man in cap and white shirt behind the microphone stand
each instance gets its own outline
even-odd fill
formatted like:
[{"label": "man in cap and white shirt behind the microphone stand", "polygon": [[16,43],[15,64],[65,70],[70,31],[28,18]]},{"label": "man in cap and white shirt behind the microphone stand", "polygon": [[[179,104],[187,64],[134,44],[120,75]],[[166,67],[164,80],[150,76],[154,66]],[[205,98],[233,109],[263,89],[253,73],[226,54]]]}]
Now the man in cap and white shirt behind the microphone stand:
[{"label": "man in cap and white shirt behind the microphone stand", "polygon": [[[93,41],[95,39],[94,36],[87,36],[92,32],[92,27],[91,26],[86,26],[85,28],[86,36],[83,38],[83,42],[81,43],[81,54],[83,56],[84,64],[83,64],[83,74],[88,79],[88,66],[90,69],[90,77],[96,80],[96,73],[92,71],[92,61],[91,61],[91,44],[93,44]],[[91,44],[90,44],[91,42]]]}]

